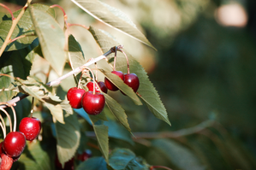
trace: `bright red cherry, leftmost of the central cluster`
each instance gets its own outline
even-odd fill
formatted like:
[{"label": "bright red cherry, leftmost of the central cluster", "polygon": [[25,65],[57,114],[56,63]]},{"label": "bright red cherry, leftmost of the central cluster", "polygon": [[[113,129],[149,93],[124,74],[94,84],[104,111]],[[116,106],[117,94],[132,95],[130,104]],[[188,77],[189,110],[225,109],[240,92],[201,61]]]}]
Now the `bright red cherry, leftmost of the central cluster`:
[{"label": "bright red cherry, leftmost of the central cluster", "polygon": [[81,108],[81,99],[86,91],[77,87],[68,90],[67,98],[72,108]]}]

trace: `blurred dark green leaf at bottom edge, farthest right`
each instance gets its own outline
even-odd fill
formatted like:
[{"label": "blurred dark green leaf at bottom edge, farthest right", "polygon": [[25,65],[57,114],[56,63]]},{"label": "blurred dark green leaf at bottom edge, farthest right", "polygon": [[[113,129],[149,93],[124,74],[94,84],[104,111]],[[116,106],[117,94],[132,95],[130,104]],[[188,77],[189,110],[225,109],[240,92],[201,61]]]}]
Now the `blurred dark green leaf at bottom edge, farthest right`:
[{"label": "blurred dark green leaf at bottom edge, farthest right", "polygon": [[169,139],[156,139],[152,141],[152,146],[160,149],[163,156],[168,157],[168,159],[176,165],[176,167],[184,170],[200,170],[205,169],[204,166],[201,165],[199,159],[193,152]]}]

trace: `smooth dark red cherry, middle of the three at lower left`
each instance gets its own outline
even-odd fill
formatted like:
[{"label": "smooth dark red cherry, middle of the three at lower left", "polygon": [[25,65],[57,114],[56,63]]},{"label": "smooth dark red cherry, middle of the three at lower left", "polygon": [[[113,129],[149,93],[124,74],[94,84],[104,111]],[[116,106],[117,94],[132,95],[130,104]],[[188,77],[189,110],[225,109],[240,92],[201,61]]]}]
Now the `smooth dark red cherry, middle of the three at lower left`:
[{"label": "smooth dark red cherry, middle of the three at lower left", "polygon": [[22,132],[9,132],[3,140],[3,150],[10,157],[21,155],[26,146],[26,138]]}]

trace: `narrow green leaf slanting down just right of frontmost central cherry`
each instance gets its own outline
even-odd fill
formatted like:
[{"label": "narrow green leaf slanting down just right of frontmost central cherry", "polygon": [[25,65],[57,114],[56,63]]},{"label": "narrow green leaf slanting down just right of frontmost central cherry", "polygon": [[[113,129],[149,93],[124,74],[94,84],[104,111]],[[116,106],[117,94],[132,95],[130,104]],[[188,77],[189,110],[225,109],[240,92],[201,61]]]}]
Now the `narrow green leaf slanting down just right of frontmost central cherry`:
[{"label": "narrow green leaf slanting down just right of frontmost central cherry", "polygon": [[110,108],[110,112],[116,116],[116,119],[119,120],[129,132],[131,132],[131,128],[127,120],[127,115],[125,114],[125,111],[122,108],[122,106],[119,103],[117,103],[116,100],[114,100],[109,95],[105,93],[103,94],[105,97],[105,103]]}]

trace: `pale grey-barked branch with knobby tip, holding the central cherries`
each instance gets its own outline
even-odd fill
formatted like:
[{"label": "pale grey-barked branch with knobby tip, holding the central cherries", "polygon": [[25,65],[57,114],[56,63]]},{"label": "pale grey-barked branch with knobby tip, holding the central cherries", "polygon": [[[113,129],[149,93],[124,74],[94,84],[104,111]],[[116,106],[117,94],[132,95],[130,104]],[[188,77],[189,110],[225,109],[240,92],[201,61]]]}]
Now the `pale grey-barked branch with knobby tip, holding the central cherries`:
[{"label": "pale grey-barked branch with knobby tip, holding the central cherries", "polygon": [[[97,58],[92,58],[89,62],[86,62],[86,64],[75,68],[71,72],[68,72],[68,73],[64,74],[62,77],[59,77],[58,79],[54,79],[54,80],[48,82],[46,85],[48,85],[48,86],[59,85],[63,79],[66,79],[66,78],[68,78],[69,76],[71,76],[75,73],[80,73],[84,69],[84,67],[88,67],[88,66],[90,66],[90,65],[94,64],[95,62],[98,62],[102,59],[107,60],[106,56],[109,56],[111,53],[115,52],[116,51],[115,48],[116,47],[111,48],[109,51],[104,53],[104,55],[102,55],[102,56],[98,56]],[[122,49],[122,45],[119,45],[117,48]],[[15,98],[9,100],[7,103],[15,106],[15,103],[21,101],[22,99],[24,99],[28,96],[29,95],[27,95],[27,94],[22,94],[21,96],[18,96],[18,97],[15,97]],[[8,107],[7,105],[0,105],[0,108],[7,108],[7,107]]]}]

